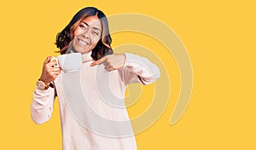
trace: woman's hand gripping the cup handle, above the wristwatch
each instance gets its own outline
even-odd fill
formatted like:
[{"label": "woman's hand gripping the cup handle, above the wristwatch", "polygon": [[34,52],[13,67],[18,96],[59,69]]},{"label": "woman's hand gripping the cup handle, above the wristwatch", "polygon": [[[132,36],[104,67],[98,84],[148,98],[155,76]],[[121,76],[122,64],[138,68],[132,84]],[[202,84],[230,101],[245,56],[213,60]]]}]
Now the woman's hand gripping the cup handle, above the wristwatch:
[{"label": "woman's hand gripping the cup handle, above the wristwatch", "polygon": [[57,76],[61,73],[60,67],[55,67],[57,65],[56,61],[50,61],[52,56],[48,56],[44,61],[43,71],[40,77],[40,80],[44,82],[44,84],[49,84],[57,78]]}]

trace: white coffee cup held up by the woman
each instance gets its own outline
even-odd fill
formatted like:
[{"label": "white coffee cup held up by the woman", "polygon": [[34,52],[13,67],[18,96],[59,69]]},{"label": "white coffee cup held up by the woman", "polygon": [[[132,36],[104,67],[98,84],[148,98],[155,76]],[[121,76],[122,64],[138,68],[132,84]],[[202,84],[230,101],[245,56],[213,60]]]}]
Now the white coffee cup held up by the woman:
[{"label": "white coffee cup held up by the woman", "polygon": [[[65,55],[59,55],[57,58],[57,66],[61,67],[63,72],[79,72],[82,66],[82,55],[81,53],[71,53]],[[52,61],[51,60],[51,61]]]}]

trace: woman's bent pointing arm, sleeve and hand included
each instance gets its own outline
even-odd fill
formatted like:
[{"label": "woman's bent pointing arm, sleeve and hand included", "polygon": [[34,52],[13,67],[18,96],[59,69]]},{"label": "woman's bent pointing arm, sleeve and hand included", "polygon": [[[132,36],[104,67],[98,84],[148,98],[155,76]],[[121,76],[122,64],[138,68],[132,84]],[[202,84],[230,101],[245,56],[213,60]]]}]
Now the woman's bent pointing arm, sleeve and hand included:
[{"label": "woman's bent pointing arm, sleeve and hand included", "polygon": [[100,63],[103,63],[108,72],[118,70],[125,84],[136,82],[152,84],[157,78],[160,78],[159,68],[139,55],[130,53],[106,55],[91,63],[90,66],[96,66]]}]

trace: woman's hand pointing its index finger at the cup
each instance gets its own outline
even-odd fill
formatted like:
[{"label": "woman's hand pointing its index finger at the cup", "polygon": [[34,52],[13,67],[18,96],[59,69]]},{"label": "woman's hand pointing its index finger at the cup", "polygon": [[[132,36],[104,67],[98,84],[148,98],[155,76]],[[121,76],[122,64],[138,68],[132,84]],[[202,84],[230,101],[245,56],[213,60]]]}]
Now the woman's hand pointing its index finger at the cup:
[{"label": "woman's hand pointing its index finger at the cup", "polygon": [[113,54],[113,55],[106,55],[102,57],[100,60],[94,61],[90,64],[90,66],[96,66],[103,62],[105,69],[108,72],[113,70],[117,70],[124,66],[125,64],[125,54]]}]

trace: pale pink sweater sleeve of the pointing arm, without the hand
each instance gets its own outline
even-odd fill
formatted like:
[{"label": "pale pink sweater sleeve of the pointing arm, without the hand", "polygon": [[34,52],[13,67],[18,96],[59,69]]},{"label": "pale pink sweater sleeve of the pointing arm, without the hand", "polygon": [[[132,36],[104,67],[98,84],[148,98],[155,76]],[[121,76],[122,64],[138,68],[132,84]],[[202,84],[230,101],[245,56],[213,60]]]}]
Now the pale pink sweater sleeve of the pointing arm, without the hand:
[{"label": "pale pink sweater sleeve of the pointing arm, without the hand", "polygon": [[119,75],[126,84],[152,84],[160,78],[159,68],[148,59],[139,55],[125,53],[125,64],[119,69]]}]

